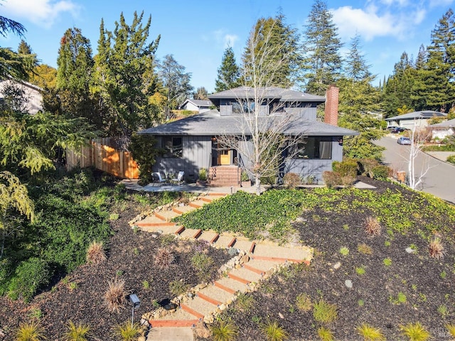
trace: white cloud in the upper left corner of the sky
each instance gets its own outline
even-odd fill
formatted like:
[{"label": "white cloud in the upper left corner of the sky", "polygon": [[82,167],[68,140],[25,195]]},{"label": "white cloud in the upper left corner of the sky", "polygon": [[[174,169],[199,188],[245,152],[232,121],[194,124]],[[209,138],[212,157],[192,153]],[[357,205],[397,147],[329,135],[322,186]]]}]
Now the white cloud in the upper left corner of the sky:
[{"label": "white cloud in the upper left corner of the sky", "polygon": [[38,26],[50,28],[58,16],[68,12],[76,16],[80,6],[71,0],[6,0],[2,3],[4,15],[20,21],[26,19]]}]

